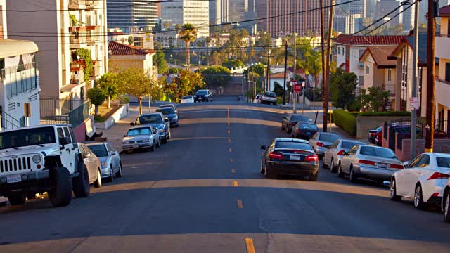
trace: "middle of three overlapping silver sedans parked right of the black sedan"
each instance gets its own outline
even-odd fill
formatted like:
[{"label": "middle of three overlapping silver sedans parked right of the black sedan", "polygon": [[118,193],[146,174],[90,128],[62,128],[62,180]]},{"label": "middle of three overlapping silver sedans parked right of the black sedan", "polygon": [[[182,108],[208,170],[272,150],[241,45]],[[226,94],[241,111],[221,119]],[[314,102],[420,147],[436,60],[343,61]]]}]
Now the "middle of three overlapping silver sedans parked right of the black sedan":
[{"label": "middle of three overlapping silver sedans parked right of the black sedan", "polygon": [[352,140],[342,140],[339,139],[335,141],[328,150],[325,150],[323,155],[323,168],[329,168],[331,172],[338,169],[340,161],[346,152],[349,152],[354,145],[364,145],[365,143]]}]

